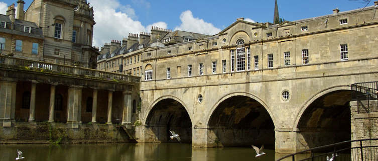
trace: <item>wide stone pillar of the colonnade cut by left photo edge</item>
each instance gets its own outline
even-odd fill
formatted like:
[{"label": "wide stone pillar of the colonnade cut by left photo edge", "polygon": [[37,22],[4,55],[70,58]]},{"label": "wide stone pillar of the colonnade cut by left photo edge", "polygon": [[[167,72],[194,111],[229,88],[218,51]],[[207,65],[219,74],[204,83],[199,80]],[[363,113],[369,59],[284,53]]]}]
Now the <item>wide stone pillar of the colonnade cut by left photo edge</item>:
[{"label": "wide stone pillar of the colonnade cut by left photo edge", "polygon": [[0,82],[0,123],[3,127],[11,127],[15,121],[16,82]]}]

